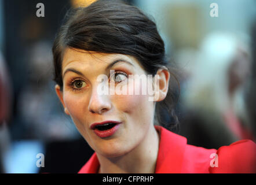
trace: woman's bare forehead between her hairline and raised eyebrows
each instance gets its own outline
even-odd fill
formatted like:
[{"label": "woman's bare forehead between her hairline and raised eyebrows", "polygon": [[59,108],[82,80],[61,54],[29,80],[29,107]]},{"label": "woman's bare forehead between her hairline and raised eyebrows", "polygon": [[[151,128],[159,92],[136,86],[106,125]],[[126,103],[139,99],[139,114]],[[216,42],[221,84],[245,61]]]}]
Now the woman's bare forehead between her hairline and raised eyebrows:
[{"label": "woman's bare forehead between her hairline and raised eyebrows", "polygon": [[134,66],[142,68],[140,62],[135,57],[125,54],[98,53],[95,51],[85,51],[80,49],[66,49],[63,56],[62,69],[69,67],[99,69],[105,68],[115,60],[125,60]]}]

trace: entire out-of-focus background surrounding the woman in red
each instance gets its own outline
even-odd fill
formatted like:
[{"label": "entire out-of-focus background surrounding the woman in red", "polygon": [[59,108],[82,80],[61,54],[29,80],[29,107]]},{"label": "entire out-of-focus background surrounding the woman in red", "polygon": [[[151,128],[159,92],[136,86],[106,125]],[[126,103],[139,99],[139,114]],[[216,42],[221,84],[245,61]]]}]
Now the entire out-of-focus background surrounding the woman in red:
[{"label": "entire out-of-focus background surrounding the woman in red", "polygon": [[[51,53],[65,12],[92,2],[0,0],[0,173],[76,173],[92,155],[57,99]],[[177,134],[208,149],[255,142],[256,1],[126,2],[155,20],[166,44],[180,82],[171,83],[180,88]]]}]

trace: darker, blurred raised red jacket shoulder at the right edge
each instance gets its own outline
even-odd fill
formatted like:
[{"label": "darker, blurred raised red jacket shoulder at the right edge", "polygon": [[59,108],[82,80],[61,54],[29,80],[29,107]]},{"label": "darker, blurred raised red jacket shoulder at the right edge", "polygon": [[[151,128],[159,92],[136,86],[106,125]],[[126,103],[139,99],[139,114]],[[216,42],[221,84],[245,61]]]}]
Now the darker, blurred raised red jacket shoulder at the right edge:
[{"label": "darker, blurred raised red jacket shoulder at the right edge", "polygon": [[244,139],[217,150],[210,173],[256,173],[256,145]]}]

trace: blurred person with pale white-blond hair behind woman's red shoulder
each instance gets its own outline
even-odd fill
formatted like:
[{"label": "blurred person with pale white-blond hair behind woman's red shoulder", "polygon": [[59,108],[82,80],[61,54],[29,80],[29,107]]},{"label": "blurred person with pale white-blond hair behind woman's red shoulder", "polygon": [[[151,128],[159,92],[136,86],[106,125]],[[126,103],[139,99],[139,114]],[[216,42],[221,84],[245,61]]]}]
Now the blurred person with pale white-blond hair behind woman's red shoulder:
[{"label": "blurred person with pale white-blond hair behind woman's red shoulder", "polygon": [[236,36],[214,32],[203,40],[182,97],[186,113],[181,135],[193,145],[216,148],[255,140],[244,105],[251,57]]}]

